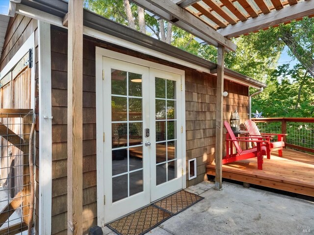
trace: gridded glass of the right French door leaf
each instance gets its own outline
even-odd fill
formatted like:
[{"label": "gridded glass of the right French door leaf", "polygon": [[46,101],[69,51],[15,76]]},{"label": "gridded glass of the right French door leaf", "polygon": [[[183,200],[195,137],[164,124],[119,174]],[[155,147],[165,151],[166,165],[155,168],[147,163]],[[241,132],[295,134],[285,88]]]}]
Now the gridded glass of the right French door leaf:
[{"label": "gridded glass of the right French door leaf", "polygon": [[155,78],[156,184],[177,178],[176,81]]}]

